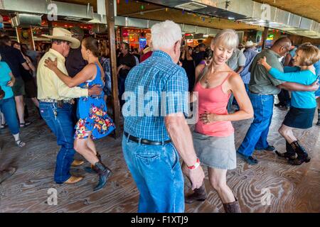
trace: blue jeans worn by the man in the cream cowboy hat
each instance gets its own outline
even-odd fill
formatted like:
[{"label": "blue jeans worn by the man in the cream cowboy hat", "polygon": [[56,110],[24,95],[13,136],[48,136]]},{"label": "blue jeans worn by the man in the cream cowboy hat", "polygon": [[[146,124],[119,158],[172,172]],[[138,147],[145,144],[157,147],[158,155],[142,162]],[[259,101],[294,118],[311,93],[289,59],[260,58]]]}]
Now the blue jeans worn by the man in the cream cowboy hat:
[{"label": "blue jeans worn by the man in the cream cowboy hat", "polygon": [[[73,105],[63,104],[62,108],[58,108],[57,104],[41,101],[39,109],[42,118],[55,134],[58,145],[61,146],[55,164],[55,182],[62,184],[71,177],[69,170],[75,155],[73,149],[73,135],[75,134]],[[57,113],[56,117],[54,111]]]}]

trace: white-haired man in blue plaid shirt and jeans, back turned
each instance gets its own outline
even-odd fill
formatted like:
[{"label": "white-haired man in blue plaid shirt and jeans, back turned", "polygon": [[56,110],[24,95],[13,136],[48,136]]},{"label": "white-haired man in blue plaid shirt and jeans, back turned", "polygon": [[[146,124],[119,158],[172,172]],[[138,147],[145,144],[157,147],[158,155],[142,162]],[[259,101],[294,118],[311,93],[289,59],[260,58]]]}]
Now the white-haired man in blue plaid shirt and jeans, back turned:
[{"label": "white-haired man in blue plaid shirt and jeans, back turned", "polygon": [[176,65],[181,28],[173,21],[151,28],[154,52],[132,68],[125,82],[122,149],[140,192],[139,212],[183,212],[183,172],[192,188],[204,173],[193,148],[188,113],[188,78]]}]

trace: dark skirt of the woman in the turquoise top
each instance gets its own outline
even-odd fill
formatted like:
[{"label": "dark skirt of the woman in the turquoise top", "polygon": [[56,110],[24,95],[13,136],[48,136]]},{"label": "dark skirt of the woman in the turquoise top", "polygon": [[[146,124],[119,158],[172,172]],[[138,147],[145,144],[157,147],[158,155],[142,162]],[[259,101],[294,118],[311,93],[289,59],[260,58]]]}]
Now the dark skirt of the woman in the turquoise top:
[{"label": "dark skirt of the woman in the turquoise top", "polygon": [[284,126],[292,128],[311,128],[315,111],[316,108],[302,109],[290,107],[290,110],[282,123]]}]

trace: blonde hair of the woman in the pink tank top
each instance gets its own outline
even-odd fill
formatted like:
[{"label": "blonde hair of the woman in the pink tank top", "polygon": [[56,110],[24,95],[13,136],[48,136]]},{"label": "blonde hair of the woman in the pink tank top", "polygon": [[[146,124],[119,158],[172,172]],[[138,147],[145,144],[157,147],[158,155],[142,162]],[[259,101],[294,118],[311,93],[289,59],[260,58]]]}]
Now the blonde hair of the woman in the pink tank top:
[{"label": "blonde hair of the woman in the pink tank top", "polygon": [[211,41],[211,44],[216,45],[220,43],[225,48],[236,49],[238,48],[239,37],[238,34],[232,29],[224,29],[220,31],[215,38]]}]

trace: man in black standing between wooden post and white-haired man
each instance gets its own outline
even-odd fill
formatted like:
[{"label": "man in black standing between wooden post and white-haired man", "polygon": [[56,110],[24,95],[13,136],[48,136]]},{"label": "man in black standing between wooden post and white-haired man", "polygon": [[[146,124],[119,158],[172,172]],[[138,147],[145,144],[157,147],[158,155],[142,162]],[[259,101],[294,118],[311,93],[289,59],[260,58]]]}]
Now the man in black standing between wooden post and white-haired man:
[{"label": "man in black standing between wooden post and white-haired man", "polygon": [[120,46],[119,57],[117,59],[117,74],[118,74],[118,89],[120,106],[122,107],[124,101],[122,94],[124,93],[124,82],[126,81],[129,71],[136,65],[134,56],[129,53],[129,44],[122,43]]}]

